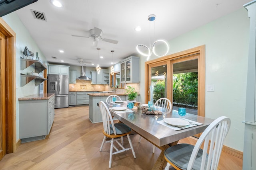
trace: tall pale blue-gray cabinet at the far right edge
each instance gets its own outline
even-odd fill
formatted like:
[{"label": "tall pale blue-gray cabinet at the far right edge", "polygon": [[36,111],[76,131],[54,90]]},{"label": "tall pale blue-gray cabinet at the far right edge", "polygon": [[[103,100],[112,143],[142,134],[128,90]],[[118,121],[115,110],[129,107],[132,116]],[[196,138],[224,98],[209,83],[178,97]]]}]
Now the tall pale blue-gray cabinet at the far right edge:
[{"label": "tall pale blue-gray cabinet at the far right edge", "polygon": [[250,18],[243,170],[256,170],[256,0],[245,4]]}]

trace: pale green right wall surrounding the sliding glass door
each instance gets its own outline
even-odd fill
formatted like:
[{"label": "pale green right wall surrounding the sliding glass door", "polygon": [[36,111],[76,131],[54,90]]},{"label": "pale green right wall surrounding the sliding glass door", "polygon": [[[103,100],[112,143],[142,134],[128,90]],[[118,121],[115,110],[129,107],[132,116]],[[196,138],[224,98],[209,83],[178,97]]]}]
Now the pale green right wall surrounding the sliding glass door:
[{"label": "pale green right wall surrounding the sliding glass door", "polygon": [[[164,38],[164,37],[159,37]],[[224,145],[243,151],[249,18],[245,8],[214,20],[169,41],[168,54],[205,45],[205,84],[214,84],[214,92],[206,92],[205,116],[216,119],[226,115],[231,128]],[[156,59],[152,56],[150,59]],[[144,75],[141,57],[140,74]],[[140,101],[144,101],[144,76],[140,78]]]}]

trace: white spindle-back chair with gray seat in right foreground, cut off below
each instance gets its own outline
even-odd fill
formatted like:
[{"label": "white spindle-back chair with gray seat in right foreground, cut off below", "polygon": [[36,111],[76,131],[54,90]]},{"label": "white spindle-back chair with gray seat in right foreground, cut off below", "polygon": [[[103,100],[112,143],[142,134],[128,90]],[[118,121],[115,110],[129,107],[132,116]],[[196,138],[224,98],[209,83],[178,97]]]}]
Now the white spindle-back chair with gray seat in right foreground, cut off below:
[{"label": "white spindle-back chair with gray seat in right foreground, cut off below", "polygon": [[[165,170],[217,170],[224,139],[230,129],[230,119],[222,116],[214,120],[202,133],[196,145],[174,145],[164,151]],[[203,149],[200,149],[204,143]],[[207,152],[207,150],[209,150]]]}]

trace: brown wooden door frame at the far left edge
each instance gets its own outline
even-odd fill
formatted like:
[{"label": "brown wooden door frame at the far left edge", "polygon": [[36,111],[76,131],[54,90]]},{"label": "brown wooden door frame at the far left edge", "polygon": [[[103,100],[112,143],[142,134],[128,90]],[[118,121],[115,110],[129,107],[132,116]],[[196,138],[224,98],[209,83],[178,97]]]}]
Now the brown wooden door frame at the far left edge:
[{"label": "brown wooden door frame at the far left edge", "polygon": [[16,33],[0,18],[0,30],[5,35],[5,58],[0,59],[5,69],[1,74],[5,75],[0,89],[5,96],[6,118],[6,154],[16,150]]}]

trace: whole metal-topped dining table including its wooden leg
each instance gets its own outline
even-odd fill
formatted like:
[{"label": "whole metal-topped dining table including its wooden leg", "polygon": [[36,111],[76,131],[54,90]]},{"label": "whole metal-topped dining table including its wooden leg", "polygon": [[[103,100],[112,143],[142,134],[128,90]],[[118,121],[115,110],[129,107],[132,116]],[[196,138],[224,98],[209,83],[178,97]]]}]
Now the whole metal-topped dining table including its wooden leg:
[{"label": "whole metal-topped dining table including its wooden leg", "polygon": [[[141,137],[161,150],[152,170],[162,170],[163,167],[166,166],[167,162],[164,159],[164,150],[173,145],[177,145],[180,139],[202,133],[208,127],[208,125],[214,121],[214,119],[190,113],[180,116],[178,111],[163,107],[155,108],[155,110],[158,112],[160,111],[160,114],[147,115],[146,113],[142,113],[142,109],[140,108],[125,108],[127,107],[126,102],[105,103],[113,117],[128,125],[135,133],[138,133]],[[122,107],[123,109],[113,109],[118,107]],[[170,118],[184,119],[189,122],[189,125],[184,127],[172,126],[167,124],[165,121]]]}]

